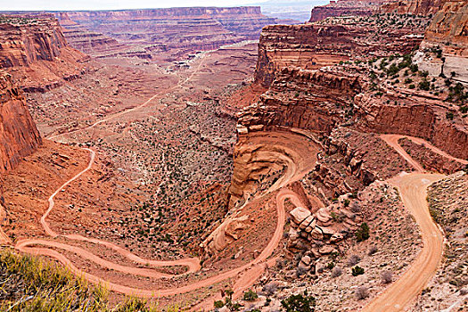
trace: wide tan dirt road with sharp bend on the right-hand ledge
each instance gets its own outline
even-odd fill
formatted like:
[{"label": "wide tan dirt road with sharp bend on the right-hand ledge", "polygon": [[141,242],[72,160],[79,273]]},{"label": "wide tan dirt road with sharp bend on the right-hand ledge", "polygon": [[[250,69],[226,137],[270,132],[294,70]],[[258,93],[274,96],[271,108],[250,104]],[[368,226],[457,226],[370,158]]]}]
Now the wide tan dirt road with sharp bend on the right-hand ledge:
[{"label": "wide tan dirt road with sharp bend on the right-hand ledge", "polygon": [[406,135],[381,135],[381,137],[382,140],[413,165],[417,171],[411,174],[402,173],[398,177],[390,179],[390,182],[398,186],[406,209],[411,212],[415,217],[416,223],[420,226],[423,236],[423,250],[405,274],[398,278],[398,281],[392,283],[390,287],[363,308],[362,311],[365,312],[403,310],[411,300],[414,300],[418,296],[425,285],[431,281],[431,278],[439,268],[443,254],[444,234],[431,218],[426,197],[427,187],[446,176],[423,173],[423,167],[403,150],[398,144],[398,140],[406,137],[415,143],[424,144],[431,151],[437,152],[450,160],[468,163],[466,160],[456,159],[446,152],[440,151],[437,147],[421,138]]}]

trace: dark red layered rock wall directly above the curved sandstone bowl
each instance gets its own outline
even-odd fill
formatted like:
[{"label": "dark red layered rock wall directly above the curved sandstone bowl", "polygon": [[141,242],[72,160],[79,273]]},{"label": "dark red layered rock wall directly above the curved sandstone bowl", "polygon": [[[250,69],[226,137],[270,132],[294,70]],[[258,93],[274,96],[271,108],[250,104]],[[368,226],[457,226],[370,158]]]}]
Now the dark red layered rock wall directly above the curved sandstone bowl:
[{"label": "dark red layered rock wall directly above the curved sandstone bowl", "polygon": [[283,69],[269,91],[240,113],[241,132],[294,127],[329,134],[361,90],[358,75]]}]

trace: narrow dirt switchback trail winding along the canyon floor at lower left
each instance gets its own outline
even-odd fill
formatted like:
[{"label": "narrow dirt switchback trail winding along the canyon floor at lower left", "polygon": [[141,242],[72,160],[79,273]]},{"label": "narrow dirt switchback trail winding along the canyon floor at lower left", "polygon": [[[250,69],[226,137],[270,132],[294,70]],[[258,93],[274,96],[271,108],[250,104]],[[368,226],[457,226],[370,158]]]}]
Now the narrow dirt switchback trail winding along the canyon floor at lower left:
[{"label": "narrow dirt switchback trail winding along the canyon floor at lower left", "polygon": [[[90,152],[90,161],[88,166],[80,171],[75,177],[70,178],[69,181],[67,181],[65,184],[63,184],[59,189],[57,189],[53,195],[49,198],[49,209],[45,211],[45,214],[43,218],[41,218],[41,223],[45,228],[45,231],[47,234],[50,234],[52,237],[57,237],[59,234],[56,234],[48,225],[46,221],[46,217],[50,214],[50,212],[53,209],[54,202],[53,202],[53,197],[61,192],[62,188],[65,187],[66,185],[70,185],[71,182],[76,180],[78,177],[83,175],[89,168],[92,167],[93,162],[94,162],[94,151],[86,149],[87,151]],[[272,238],[270,239],[270,242],[268,242],[267,247],[262,250],[262,252],[259,254],[259,257],[256,259],[250,261],[250,263],[242,266],[235,268],[233,270],[221,273],[219,275],[212,276],[210,278],[207,278],[205,280],[188,284],[183,287],[177,287],[177,288],[171,288],[171,289],[164,289],[164,290],[145,290],[145,289],[138,289],[138,288],[132,288],[132,287],[127,287],[125,285],[117,284],[117,283],[111,283],[109,281],[105,281],[100,277],[97,277],[95,275],[91,275],[89,273],[86,273],[82,270],[80,270],[78,267],[75,267],[73,263],[70,261],[70,259],[66,258],[64,255],[62,255],[60,252],[56,250],[50,250],[46,248],[38,248],[38,247],[30,247],[30,246],[35,246],[35,245],[43,245],[43,246],[48,246],[48,247],[53,247],[53,248],[58,248],[62,250],[68,250],[71,252],[76,253],[78,256],[88,259],[93,261],[94,263],[106,267],[109,269],[113,269],[119,272],[124,272],[132,275],[142,275],[142,276],[149,276],[153,278],[160,278],[160,277],[172,277],[173,275],[165,275],[160,272],[155,272],[152,271],[151,269],[142,269],[142,268],[135,268],[135,267],[125,267],[125,266],[120,266],[119,264],[113,263],[111,261],[107,261],[105,259],[101,259],[94,254],[92,254],[89,251],[83,250],[79,247],[76,246],[70,246],[67,244],[59,243],[59,242],[52,242],[52,241],[47,241],[47,240],[36,240],[36,239],[24,239],[19,242],[17,242],[15,248],[17,250],[20,250],[22,252],[28,252],[30,254],[34,255],[43,255],[43,256],[48,256],[53,259],[58,260],[61,262],[65,267],[69,267],[70,270],[76,274],[76,275],[82,275],[87,281],[91,283],[102,283],[105,284],[111,291],[118,291],[127,295],[137,295],[139,297],[153,297],[153,296],[170,296],[170,295],[176,295],[184,292],[189,292],[189,291],[195,291],[197,289],[200,289],[202,287],[207,287],[209,285],[212,285],[214,283],[219,283],[222,282],[228,278],[235,277],[236,275],[241,274],[243,271],[246,271],[248,269],[252,269],[253,272],[263,272],[263,269],[265,268],[265,265],[263,264],[274,252],[276,247],[278,246],[279,242],[281,241],[283,237],[283,227],[284,227],[284,222],[285,222],[285,210],[284,210],[284,201],[286,199],[291,199],[291,201],[296,204],[300,205],[300,199],[297,196],[296,193],[293,193],[289,190],[283,189],[278,193],[276,196],[276,209],[277,209],[277,214],[278,214],[278,222],[275,228],[275,234],[273,234]],[[100,243],[105,245],[106,247],[110,247],[111,249],[119,251],[119,253],[123,254],[124,256],[127,256],[128,259],[132,259],[137,262],[141,263],[148,263],[152,266],[155,267],[166,267],[166,266],[186,266],[189,267],[189,272],[196,271],[200,268],[200,264],[198,262],[198,259],[180,259],[176,261],[155,261],[155,260],[147,260],[147,259],[141,259],[137,257],[136,255],[132,254],[131,252],[124,250],[120,248],[117,245],[114,245],[110,242],[103,242],[100,240],[96,239],[89,239],[86,237],[83,237],[81,235],[63,235],[63,237],[67,237],[69,239],[78,239],[86,242],[94,242],[94,243]],[[196,261],[196,262],[195,262]],[[263,265],[261,265],[263,264]],[[260,270],[260,271],[259,271]],[[260,272],[260,274],[261,274]],[[186,273],[185,273],[186,274]],[[259,274],[256,274],[259,275]],[[244,281],[247,283],[240,283],[240,286],[242,289],[246,287],[250,287],[251,283],[255,282],[255,279],[249,279],[248,281]]]}]

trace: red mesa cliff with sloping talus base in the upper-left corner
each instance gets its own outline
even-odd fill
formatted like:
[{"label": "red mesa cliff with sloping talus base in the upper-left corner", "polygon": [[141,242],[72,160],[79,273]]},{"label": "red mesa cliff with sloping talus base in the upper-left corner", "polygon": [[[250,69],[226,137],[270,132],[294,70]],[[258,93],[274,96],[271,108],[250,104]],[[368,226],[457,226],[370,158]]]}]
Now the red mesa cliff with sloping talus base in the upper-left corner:
[{"label": "red mesa cliff with sloping talus base in the upper-left corner", "polygon": [[23,90],[44,92],[78,78],[86,55],[67,44],[50,15],[0,17],[0,66]]}]

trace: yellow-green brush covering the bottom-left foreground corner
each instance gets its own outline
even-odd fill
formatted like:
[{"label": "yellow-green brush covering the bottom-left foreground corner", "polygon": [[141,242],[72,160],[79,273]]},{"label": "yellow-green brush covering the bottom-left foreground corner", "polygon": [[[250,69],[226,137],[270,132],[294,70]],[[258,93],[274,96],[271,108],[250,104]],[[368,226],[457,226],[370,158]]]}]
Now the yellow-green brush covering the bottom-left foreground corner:
[{"label": "yellow-green brush covering the bottom-left foreground corner", "polygon": [[[0,251],[0,311],[160,311],[157,302],[129,297],[111,308],[108,291],[43,259]],[[172,311],[178,311],[172,308]]]}]

